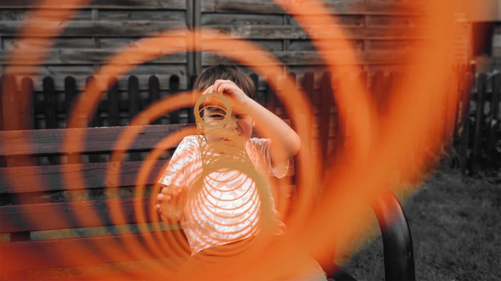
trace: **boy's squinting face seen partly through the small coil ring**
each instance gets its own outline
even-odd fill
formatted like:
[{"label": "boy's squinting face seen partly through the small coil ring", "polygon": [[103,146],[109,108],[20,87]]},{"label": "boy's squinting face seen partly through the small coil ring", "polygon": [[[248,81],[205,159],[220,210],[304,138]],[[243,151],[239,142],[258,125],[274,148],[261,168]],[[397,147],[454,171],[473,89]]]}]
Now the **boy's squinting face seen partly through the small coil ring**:
[{"label": "boy's squinting face seen partly through the small coil ring", "polygon": [[[203,120],[208,124],[217,124],[224,119],[225,111],[217,108],[208,106],[203,109]],[[219,114],[217,114],[219,113]],[[242,144],[245,144],[247,140],[252,135],[252,130],[254,126],[254,120],[250,115],[244,113],[231,113],[231,119],[228,124],[226,124],[225,129],[234,129],[238,138],[240,139]],[[232,141],[235,139],[231,139],[230,135],[227,136],[214,136],[211,135],[210,132],[207,132],[207,128],[203,129],[205,133],[205,137],[208,142],[217,142],[217,141]],[[226,138],[225,138],[226,137]]]}]

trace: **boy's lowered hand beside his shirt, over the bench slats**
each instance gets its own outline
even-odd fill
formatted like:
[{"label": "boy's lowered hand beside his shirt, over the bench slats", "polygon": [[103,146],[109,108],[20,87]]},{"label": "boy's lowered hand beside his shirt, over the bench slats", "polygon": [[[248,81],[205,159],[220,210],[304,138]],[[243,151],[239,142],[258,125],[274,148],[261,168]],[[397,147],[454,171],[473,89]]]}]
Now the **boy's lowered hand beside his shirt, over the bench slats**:
[{"label": "boy's lowered hand beside his shirt, over the bench slats", "polygon": [[179,187],[174,184],[163,185],[160,193],[157,194],[157,204],[155,209],[160,212],[163,219],[179,220],[182,210],[186,205],[187,187]]}]

